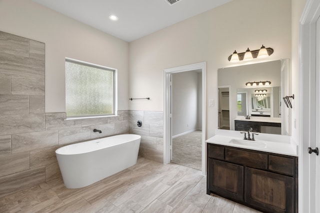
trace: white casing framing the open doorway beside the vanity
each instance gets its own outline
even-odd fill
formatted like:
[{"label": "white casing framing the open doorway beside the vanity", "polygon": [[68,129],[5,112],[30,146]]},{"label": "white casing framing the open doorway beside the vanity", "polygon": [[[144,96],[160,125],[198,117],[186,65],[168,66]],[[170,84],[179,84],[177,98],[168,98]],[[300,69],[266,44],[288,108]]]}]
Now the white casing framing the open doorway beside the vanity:
[{"label": "white casing framing the open doorway beside the vanity", "polygon": [[163,130],[163,163],[172,159],[172,74],[192,70],[201,71],[201,171],[205,174],[205,62],[164,69],[164,130]]}]

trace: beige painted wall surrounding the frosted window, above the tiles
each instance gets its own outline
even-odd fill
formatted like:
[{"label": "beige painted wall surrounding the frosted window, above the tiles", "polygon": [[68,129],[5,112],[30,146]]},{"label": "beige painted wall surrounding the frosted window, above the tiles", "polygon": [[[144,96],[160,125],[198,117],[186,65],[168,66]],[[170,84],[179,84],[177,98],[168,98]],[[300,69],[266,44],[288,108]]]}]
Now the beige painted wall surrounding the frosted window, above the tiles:
[{"label": "beige painted wall surrounding the frosted window, above the tiles", "polygon": [[45,112],[65,112],[65,57],[118,69],[118,109],[128,110],[127,42],[31,0],[0,0],[0,30],[45,43]]}]

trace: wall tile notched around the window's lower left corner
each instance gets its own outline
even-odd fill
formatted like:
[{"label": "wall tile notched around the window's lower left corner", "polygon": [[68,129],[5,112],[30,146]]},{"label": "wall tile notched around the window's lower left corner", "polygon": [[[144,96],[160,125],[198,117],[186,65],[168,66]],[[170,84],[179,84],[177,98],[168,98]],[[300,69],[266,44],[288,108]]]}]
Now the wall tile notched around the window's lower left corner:
[{"label": "wall tile notched around the window's lower left corner", "polygon": [[80,127],[81,120],[64,120],[65,112],[61,113],[45,113],[45,129],[65,129],[72,127]]}]

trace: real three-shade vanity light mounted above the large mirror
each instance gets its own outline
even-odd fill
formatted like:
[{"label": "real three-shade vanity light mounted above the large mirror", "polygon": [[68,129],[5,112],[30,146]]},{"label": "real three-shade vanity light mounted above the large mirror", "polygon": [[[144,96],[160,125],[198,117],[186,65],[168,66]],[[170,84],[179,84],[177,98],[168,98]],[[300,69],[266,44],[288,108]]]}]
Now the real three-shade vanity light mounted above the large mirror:
[{"label": "real three-shade vanity light mounted above the large mirror", "polygon": [[260,49],[250,51],[249,48],[245,52],[237,53],[235,50],[232,55],[229,55],[228,60],[230,62],[238,62],[242,60],[251,60],[253,58],[264,58],[273,53],[273,49],[271,47],[262,46]]}]

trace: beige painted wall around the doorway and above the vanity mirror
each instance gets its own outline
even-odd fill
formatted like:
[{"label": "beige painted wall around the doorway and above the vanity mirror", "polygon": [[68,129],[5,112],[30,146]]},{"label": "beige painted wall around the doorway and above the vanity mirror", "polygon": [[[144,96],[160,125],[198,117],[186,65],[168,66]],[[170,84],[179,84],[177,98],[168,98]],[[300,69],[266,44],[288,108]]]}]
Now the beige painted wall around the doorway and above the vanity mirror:
[{"label": "beige painted wall around the doorway and above the vanity mirror", "polygon": [[291,57],[290,0],[233,0],[220,7],[181,21],[129,46],[129,96],[150,97],[150,101],[130,102],[130,110],[163,111],[163,69],[206,61],[207,136],[217,128],[217,69],[231,64],[227,57],[238,52],[272,47],[266,59]]}]

